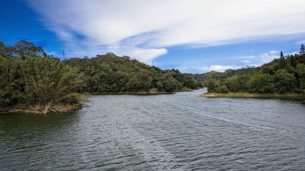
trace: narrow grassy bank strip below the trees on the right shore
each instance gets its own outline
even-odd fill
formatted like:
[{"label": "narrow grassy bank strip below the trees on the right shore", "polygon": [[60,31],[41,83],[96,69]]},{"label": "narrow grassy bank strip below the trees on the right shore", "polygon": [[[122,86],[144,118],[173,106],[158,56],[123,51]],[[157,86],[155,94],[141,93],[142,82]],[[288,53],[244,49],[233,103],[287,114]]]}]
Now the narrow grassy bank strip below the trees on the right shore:
[{"label": "narrow grassy bank strip below the trees on the right shore", "polygon": [[196,96],[201,97],[298,97],[305,98],[301,93],[203,93]]}]

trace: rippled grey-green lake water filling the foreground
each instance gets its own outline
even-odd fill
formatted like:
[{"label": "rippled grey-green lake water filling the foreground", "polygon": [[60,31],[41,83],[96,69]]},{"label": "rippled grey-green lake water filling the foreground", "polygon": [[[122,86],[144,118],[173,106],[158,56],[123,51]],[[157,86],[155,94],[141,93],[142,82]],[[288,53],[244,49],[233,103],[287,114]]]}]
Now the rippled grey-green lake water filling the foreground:
[{"label": "rippled grey-green lake water filling the foreground", "polygon": [[300,101],[194,96],[205,91],[0,115],[0,170],[305,170]]}]

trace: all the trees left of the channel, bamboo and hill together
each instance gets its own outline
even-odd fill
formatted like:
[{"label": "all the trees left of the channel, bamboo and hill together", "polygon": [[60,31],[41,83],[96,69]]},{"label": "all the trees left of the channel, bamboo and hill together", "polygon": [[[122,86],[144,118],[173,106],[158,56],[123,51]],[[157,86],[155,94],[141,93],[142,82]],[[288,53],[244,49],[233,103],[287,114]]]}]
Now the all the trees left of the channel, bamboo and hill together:
[{"label": "all the trees left of the channel, bamboo and hill together", "polygon": [[172,92],[202,83],[178,70],[161,70],[113,53],[60,61],[33,43],[0,42],[0,107],[17,104],[49,108],[77,104],[83,92]]}]

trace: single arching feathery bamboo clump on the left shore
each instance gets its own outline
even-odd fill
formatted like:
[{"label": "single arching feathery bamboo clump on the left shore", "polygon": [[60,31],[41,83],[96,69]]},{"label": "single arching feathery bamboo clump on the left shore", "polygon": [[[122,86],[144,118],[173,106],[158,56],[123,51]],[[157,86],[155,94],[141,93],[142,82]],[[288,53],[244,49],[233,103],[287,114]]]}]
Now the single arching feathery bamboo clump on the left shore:
[{"label": "single arching feathery bamboo clump on the left shore", "polygon": [[27,105],[78,102],[85,86],[82,74],[58,60],[27,56],[18,73]]}]

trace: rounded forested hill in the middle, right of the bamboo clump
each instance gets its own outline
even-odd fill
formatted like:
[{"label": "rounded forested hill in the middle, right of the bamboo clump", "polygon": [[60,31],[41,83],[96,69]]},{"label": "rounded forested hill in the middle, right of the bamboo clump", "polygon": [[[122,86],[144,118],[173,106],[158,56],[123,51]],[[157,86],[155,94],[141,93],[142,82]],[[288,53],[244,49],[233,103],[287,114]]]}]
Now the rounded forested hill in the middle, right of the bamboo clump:
[{"label": "rounded forested hill in the middle, right of the bamboo clump", "polygon": [[186,87],[202,87],[192,76],[181,74],[178,70],[161,70],[129,56],[119,57],[113,53],[93,58],[71,58],[64,63],[77,67],[84,74],[84,91],[88,92],[136,92],[150,88],[172,92]]}]

